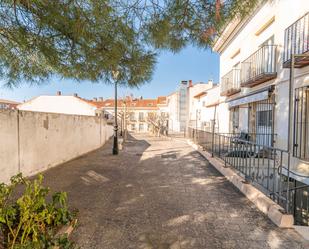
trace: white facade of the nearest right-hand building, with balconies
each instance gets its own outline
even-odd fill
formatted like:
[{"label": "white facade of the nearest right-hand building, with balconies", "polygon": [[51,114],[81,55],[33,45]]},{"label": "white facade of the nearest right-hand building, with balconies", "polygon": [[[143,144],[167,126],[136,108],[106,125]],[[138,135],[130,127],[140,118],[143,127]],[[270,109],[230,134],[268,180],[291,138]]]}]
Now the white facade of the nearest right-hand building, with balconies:
[{"label": "white facade of the nearest right-hand building, with balconies", "polygon": [[245,20],[231,22],[213,49],[220,54],[229,132],[246,132],[256,143],[283,150],[290,134],[291,167],[309,175],[308,58],[297,59],[289,88],[291,54],[309,51],[308,11],[307,0],[267,1]]}]

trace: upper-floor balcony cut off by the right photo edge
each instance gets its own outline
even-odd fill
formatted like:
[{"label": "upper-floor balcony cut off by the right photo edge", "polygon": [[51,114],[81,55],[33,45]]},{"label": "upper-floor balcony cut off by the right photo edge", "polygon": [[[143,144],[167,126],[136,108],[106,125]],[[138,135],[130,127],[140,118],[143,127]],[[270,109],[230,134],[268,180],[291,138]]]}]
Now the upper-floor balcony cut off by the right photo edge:
[{"label": "upper-floor balcony cut off by the right photo edge", "polygon": [[291,55],[304,55],[295,58],[294,67],[309,65],[309,13],[298,19],[284,33],[283,67],[291,66]]}]

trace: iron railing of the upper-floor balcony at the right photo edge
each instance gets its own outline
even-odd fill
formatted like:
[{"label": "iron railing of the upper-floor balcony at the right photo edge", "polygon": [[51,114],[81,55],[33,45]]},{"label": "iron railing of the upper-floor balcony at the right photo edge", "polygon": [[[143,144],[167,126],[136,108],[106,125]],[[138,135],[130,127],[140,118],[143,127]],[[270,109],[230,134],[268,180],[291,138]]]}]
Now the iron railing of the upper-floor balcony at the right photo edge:
[{"label": "iron railing of the upper-floor balcony at the right photo edge", "polygon": [[309,12],[285,30],[283,63],[290,61],[292,54],[306,52],[309,52]]}]

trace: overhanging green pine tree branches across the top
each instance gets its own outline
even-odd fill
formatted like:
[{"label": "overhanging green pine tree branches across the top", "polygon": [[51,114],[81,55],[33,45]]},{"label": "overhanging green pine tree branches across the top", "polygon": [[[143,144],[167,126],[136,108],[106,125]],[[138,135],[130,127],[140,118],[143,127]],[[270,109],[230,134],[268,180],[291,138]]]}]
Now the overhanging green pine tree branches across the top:
[{"label": "overhanging green pine tree branches across the top", "polygon": [[8,86],[52,75],[138,86],[157,51],[208,48],[222,27],[258,0],[2,0],[0,79]]}]

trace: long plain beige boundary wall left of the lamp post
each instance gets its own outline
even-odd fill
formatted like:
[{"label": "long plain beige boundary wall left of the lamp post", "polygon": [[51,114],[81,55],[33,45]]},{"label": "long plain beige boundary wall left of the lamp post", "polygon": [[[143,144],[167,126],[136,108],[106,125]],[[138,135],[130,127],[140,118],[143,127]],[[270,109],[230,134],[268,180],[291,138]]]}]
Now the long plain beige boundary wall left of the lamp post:
[{"label": "long plain beige boundary wall left of the lamp post", "polygon": [[100,117],[0,111],[0,182],[30,176],[101,147],[113,128]]}]

